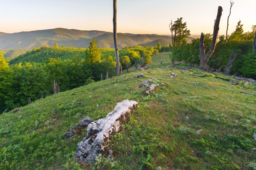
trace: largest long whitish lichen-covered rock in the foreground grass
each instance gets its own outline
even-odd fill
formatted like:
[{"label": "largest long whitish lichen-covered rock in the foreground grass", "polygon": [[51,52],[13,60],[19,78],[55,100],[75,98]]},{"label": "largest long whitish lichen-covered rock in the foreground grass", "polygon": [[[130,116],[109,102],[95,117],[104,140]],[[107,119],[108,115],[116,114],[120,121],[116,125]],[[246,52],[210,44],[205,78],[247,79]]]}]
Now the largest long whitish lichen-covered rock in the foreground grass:
[{"label": "largest long whitish lichen-covered rock in the foreground grass", "polygon": [[124,100],[117,103],[105,118],[91,122],[87,127],[87,136],[78,143],[74,156],[82,163],[95,162],[96,157],[106,151],[109,137],[120,130],[137,106],[136,101]]}]

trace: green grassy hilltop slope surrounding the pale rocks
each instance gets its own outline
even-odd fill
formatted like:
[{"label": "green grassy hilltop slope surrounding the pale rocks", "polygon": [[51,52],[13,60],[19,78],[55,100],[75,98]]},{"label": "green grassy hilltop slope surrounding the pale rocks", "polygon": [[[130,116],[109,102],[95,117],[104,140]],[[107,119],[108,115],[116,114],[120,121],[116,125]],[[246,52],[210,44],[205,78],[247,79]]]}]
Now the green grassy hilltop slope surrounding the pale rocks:
[{"label": "green grassy hilltop slope surrounding the pale rocks", "polygon": [[[162,59],[168,65],[166,58],[164,54],[152,57],[150,68]],[[170,78],[167,71],[178,75]],[[134,78],[141,72],[144,78]],[[102,155],[91,169],[255,168],[255,84],[233,85],[198,70],[197,74],[207,76],[188,73],[172,68],[131,72],[4,113],[0,116],[0,169],[85,169],[72,154],[86,130],[70,140],[62,136],[87,116],[104,118],[124,99],[137,101],[139,108],[109,143],[115,158]],[[141,96],[145,88],[136,86],[148,78],[166,86]],[[195,133],[199,129],[203,131]]]}]

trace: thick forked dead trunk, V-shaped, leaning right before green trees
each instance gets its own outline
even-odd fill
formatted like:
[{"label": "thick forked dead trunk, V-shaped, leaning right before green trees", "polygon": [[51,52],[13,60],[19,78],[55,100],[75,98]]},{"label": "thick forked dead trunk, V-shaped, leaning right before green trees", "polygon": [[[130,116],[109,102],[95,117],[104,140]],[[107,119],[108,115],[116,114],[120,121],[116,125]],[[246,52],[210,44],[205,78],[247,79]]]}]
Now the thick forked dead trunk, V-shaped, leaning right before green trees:
[{"label": "thick forked dead trunk, V-shaped, leaning right before green trees", "polygon": [[207,52],[207,54],[205,55],[205,41],[204,41],[204,34],[201,33],[201,37],[200,37],[200,67],[207,69],[207,63],[211,57],[211,55],[213,54],[215,47],[216,47],[216,41],[217,41],[217,35],[219,33],[219,26],[220,26],[220,18],[222,15],[222,7],[219,6],[218,8],[218,13],[217,13],[217,17],[214,23],[214,29],[213,29],[213,41],[211,42],[211,48],[210,50]]}]

